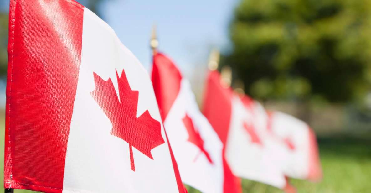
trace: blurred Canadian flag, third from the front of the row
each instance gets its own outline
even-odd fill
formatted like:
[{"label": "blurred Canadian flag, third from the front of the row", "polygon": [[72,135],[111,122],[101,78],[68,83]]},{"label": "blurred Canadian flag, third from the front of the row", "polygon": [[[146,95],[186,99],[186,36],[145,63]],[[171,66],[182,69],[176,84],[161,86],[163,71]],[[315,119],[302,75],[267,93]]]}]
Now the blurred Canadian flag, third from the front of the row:
[{"label": "blurred Canadian flag, third from the front of the row", "polygon": [[222,84],[219,72],[210,71],[203,113],[225,145],[225,158],[236,176],[294,192],[282,170],[285,148],[267,132],[262,105],[234,94]]}]

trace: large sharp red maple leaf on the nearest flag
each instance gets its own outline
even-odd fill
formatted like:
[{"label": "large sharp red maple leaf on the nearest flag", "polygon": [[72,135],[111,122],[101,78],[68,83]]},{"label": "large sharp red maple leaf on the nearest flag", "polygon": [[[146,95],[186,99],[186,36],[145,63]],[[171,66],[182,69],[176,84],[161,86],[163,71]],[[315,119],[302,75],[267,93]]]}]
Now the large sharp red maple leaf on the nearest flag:
[{"label": "large sharp red maple leaf on the nearest flag", "polygon": [[119,98],[111,78],[104,81],[93,72],[95,90],[91,95],[112,123],[111,135],[129,144],[130,166],[135,171],[132,147],[153,160],[151,150],[165,143],[161,135],[161,124],[145,111],[137,117],[138,91],[132,91],[124,70],[117,76]]}]

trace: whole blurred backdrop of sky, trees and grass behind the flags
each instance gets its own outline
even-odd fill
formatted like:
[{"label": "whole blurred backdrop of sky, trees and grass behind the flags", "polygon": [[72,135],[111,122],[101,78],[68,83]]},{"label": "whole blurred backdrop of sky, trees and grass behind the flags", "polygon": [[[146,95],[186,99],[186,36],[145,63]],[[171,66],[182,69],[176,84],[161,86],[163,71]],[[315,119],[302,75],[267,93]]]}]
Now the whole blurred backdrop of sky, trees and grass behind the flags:
[{"label": "whole blurred backdrop of sky, trees and grass behind the flags", "polygon": [[[148,71],[156,24],[159,49],[191,80],[199,102],[215,47],[221,50],[220,68],[232,68],[234,88],[243,88],[267,109],[308,122],[318,137],[324,178],[318,183],[292,179],[298,192],[370,191],[370,0],[78,1],[110,24]],[[8,9],[8,0],[1,1],[1,109]],[[3,152],[4,110],[0,123]],[[281,192],[249,180],[243,180],[243,191]]]}]

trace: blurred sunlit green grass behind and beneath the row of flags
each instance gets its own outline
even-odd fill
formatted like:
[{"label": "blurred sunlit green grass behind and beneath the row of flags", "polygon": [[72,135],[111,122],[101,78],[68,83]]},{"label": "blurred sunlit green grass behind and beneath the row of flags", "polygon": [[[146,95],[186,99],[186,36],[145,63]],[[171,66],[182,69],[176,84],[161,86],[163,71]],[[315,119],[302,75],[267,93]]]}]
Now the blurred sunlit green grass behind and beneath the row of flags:
[{"label": "blurred sunlit green grass behind and beneath the row of flags", "polygon": [[[0,117],[3,117],[0,115]],[[0,118],[0,172],[3,183],[4,170],[4,118]],[[321,164],[324,178],[319,183],[292,179],[291,183],[299,193],[362,193],[371,190],[371,140],[361,141],[347,138],[326,138],[319,140]],[[250,180],[242,181],[243,192],[278,193],[272,186]],[[4,189],[0,189],[3,193]],[[15,190],[16,193],[31,193]],[[188,187],[189,193],[198,191]]]}]

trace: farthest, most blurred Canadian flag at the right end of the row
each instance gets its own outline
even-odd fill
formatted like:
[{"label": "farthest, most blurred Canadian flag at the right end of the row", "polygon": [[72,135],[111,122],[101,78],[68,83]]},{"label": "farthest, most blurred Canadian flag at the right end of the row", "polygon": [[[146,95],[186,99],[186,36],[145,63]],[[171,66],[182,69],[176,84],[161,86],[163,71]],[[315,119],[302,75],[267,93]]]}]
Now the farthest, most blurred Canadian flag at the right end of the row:
[{"label": "farthest, most blurred Canadian flag at the right end of the row", "polygon": [[286,144],[287,176],[318,181],[322,177],[315,133],[309,126],[291,115],[269,112],[267,129]]}]

